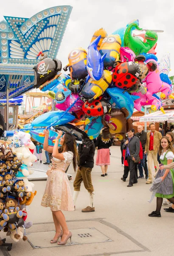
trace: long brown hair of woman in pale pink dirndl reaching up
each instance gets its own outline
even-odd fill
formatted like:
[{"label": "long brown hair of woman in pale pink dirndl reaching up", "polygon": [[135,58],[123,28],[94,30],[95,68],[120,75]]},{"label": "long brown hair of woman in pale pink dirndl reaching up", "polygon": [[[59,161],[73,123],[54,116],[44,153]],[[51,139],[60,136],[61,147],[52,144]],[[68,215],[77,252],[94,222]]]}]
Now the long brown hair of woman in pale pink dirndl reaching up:
[{"label": "long brown hair of woman in pale pink dirndl reaching up", "polygon": [[59,153],[65,151],[73,152],[73,168],[76,172],[77,164],[79,163],[79,153],[77,150],[76,138],[73,134],[70,134],[69,132],[65,133],[63,145],[59,148]]}]

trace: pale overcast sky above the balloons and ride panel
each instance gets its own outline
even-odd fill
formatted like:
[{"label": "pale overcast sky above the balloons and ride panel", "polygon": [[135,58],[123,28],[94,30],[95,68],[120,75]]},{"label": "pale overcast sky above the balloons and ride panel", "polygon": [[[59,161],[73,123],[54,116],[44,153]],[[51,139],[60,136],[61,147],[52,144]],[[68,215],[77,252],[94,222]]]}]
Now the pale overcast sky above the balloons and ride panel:
[{"label": "pale overcast sky above the balloons and ride panel", "polygon": [[157,57],[160,62],[166,51],[171,53],[169,76],[174,75],[173,0],[3,0],[0,20],[3,15],[30,18],[41,10],[61,5],[73,6],[57,55],[63,67],[72,49],[87,49],[96,29],[103,27],[109,35],[129,21],[139,19],[140,28],[164,30],[158,33]]}]

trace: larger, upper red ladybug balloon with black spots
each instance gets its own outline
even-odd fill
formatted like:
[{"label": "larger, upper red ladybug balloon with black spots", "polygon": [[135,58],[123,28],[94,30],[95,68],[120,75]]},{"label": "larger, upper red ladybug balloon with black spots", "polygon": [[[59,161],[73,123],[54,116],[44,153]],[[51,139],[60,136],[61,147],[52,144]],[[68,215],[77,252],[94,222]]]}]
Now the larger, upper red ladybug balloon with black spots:
[{"label": "larger, upper red ladybug balloon with black spots", "polygon": [[115,67],[112,75],[112,80],[116,87],[123,90],[129,90],[135,86],[138,77],[140,76],[140,65],[133,61],[123,62]]}]

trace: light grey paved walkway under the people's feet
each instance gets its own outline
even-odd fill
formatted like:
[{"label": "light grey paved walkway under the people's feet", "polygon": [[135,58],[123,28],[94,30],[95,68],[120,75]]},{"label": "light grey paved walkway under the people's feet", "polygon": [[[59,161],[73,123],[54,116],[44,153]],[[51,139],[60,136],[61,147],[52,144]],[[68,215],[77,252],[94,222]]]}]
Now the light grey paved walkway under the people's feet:
[{"label": "light grey paved walkway under the people's feet", "polygon": [[[100,167],[93,169],[95,212],[81,212],[89,202],[82,183],[76,211],[65,212],[73,233],[72,244],[67,246],[50,244],[54,235],[51,212],[40,206],[46,181],[34,181],[37,195],[28,211],[28,221],[34,222],[27,230],[30,242],[14,243],[11,251],[0,250],[0,256],[173,256],[174,214],[162,209],[162,218],[148,217],[156,206],[155,199],[151,204],[147,202],[151,197],[151,185],[141,179],[127,188],[128,181],[120,180],[123,175],[120,159],[120,148],[112,146],[109,175],[101,177]],[[74,180],[72,166],[68,172]],[[70,180],[72,192],[73,180]],[[1,235],[5,237],[3,232]]]}]

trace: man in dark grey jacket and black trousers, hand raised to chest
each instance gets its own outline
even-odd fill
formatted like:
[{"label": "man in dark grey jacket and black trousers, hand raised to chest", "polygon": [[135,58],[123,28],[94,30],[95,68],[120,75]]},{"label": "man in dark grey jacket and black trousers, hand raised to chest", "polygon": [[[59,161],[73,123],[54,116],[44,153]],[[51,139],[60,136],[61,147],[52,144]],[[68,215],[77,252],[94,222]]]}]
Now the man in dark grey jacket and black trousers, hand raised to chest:
[{"label": "man in dark grey jacket and black trousers, hand raised to chest", "polygon": [[129,172],[130,172],[130,177],[129,177],[129,185],[127,187],[133,186],[134,183],[137,183],[137,175],[135,172],[135,160],[139,156],[140,152],[140,140],[134,136],[135,130],[132,129],[128,131],[128,140],[123,144],[123,149],[126,149],[125,152],[125,159],[128,162],[129,165]]}]

